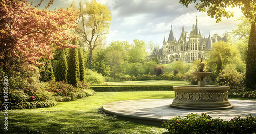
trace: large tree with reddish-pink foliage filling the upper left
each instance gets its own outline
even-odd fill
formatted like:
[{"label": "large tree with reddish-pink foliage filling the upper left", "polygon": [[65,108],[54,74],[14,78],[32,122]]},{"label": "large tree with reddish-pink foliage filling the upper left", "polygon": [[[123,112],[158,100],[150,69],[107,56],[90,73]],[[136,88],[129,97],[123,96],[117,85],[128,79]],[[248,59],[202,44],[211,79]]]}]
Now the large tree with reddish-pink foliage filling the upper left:
[{"label": "large tree with reddish-pink foliage filling the upper left", "polygon": [[53,47],[75,48],[69,34],[78,18],[72,8],[39,10],[27,0],[0,0],[0,66],[6,70],[9,61],[19,60],[34,70],[33,65],[44,65],[41,58],[53,59]]}]

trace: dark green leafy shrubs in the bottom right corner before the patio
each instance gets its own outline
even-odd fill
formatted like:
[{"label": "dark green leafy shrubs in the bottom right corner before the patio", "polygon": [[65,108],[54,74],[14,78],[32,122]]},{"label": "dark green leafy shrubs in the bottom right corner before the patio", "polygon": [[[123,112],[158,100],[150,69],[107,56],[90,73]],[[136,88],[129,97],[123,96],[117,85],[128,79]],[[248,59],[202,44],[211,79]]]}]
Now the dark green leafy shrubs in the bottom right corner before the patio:
[{"label": "dark green leafy shrubs in the bottom right corner before the patio", "polygon": [[206,113],[200,116],[191,113],[184,118],[177,116],[163,122],[162,126],[168,129],[169,133],[252,133],[256,130],[255,118],[251,115],[245,119],[239,116],[224,121],[220,118],[212,119]]}]

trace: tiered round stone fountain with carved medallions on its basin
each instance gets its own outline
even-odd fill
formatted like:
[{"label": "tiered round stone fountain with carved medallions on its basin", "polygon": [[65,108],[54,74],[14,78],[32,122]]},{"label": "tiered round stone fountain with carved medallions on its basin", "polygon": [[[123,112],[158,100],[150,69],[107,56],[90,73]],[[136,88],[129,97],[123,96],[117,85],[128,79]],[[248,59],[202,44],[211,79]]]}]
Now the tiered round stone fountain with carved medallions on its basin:
[{"label": "tiered round stone fountain with carved medallions on its basin", "polygon": [[206,86],[204,78],[211,72],[204,72],[204,63],[198,64],[197,72],[192,72],[199,78],[198,86],[174,86],[175,99],[173,108],[198,109],[198,110],[220,110],[232,109],[233,106],[228,100],[228,86]]}]

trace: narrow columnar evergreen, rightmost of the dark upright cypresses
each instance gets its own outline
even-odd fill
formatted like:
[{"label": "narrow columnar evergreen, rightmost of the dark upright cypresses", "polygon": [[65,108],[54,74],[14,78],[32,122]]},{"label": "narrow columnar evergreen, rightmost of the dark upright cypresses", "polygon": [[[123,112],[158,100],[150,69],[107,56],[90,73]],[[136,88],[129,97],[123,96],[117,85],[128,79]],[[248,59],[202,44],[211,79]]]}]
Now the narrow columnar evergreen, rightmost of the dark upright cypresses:
[{"label": "narrow columnar evergreen, rightmost of the dark upright cypresses", "polygon": [[85,81],[86,79],[86,63],[84,62],[84,56],[83,56],[83,48],[78,49],[78,59],[79,59],[79,71],[80,71],[80,81]]}]

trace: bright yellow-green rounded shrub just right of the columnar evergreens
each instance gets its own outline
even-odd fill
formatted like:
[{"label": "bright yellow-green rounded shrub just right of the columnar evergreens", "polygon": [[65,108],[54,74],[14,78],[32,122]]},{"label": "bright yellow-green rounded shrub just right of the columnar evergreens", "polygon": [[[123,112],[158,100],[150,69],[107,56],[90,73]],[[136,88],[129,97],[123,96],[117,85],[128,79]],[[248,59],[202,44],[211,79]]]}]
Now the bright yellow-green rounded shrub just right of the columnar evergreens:
[{"label": "bright yellow-green rounded shrub just right of the columnar evergreens", "polygon": [[86,82],[90,84],[102,84],[105,82],[104,77],[90,69],[86,69]]}]

